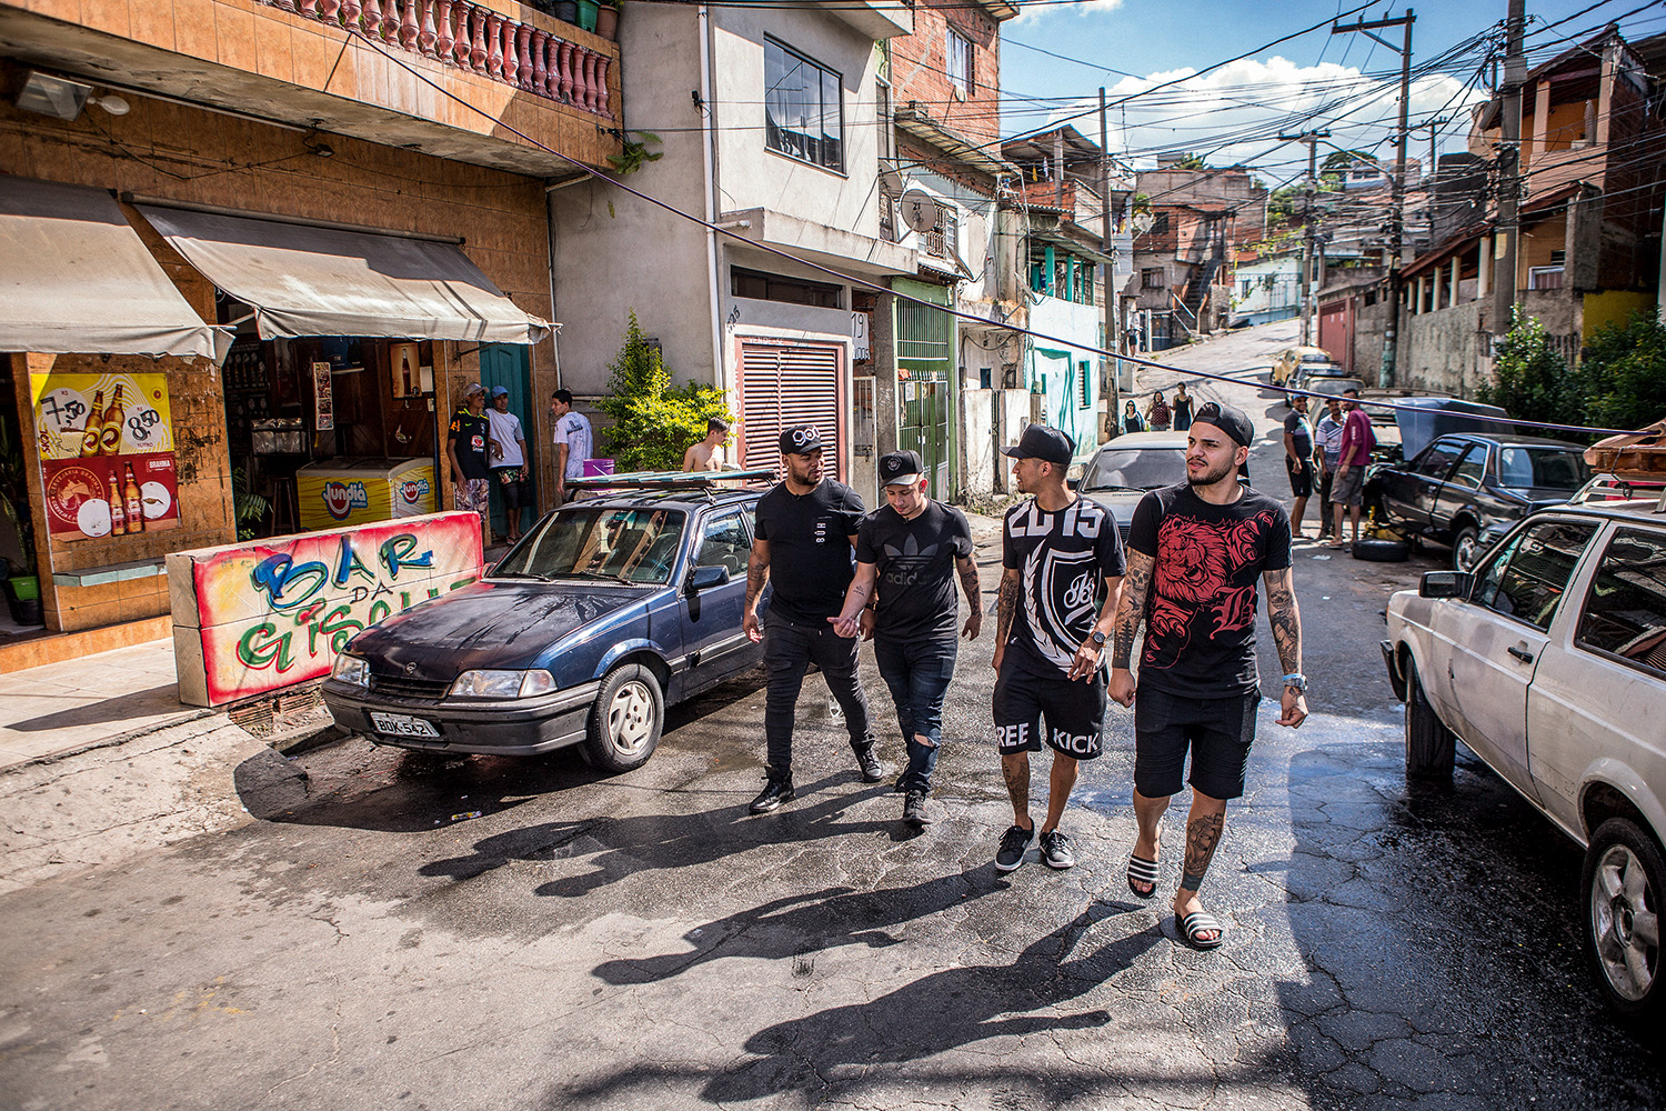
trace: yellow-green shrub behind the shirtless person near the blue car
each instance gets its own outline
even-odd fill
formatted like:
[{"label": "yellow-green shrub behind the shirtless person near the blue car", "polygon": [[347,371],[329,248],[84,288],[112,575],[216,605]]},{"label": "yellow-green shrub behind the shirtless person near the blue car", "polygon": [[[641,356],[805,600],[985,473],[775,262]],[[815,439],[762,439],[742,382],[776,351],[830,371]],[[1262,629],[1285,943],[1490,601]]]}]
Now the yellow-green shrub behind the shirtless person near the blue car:
[{"label": "yellow-green shrub behind the shirtless person near the blue car", "polygon": [[613,418],[608,445],[620,471],[675,471],[683,451],[706,435],[713,416],[735,423],[723,390],[671,385],[660,348],[648,343],[631,310],[625,346],[608,366],[610,396],[596,405]]}]

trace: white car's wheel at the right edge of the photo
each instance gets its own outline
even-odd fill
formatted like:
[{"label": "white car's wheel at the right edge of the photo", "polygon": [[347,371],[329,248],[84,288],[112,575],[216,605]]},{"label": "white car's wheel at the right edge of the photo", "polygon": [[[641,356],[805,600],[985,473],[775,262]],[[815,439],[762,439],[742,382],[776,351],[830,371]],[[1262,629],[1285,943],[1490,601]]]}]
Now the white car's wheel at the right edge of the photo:
[{"label": "white car's wheel at the right edge of the photo", "polygon": [[1666,863],[1629,818],[1609,818],[1584,853],[1586,948],[1609,1006],[1626,1018],[1663,1011],[1661,894]]}]

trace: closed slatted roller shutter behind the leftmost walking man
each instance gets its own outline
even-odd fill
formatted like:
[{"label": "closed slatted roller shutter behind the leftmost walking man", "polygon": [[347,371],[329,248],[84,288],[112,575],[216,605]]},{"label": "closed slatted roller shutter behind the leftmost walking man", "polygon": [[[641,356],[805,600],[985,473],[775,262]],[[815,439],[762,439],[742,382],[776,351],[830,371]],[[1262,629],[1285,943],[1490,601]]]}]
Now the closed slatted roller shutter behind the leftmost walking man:
[{"label": "closed slatted roller shutter behind the leftmost walking man", "polygon": [[780,436],[793,425],[815,425],[831,441],[828,463],[845,481],[840,348],[830,343],[740,345],[741,466],[780,466]]}]

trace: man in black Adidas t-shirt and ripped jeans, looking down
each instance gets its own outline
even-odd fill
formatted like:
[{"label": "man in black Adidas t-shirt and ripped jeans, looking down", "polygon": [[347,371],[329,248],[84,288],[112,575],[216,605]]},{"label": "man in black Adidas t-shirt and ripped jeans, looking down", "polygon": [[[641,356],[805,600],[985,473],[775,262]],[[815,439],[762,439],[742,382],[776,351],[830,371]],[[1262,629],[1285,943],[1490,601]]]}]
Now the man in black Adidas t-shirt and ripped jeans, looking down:
[{"label": "man in black Adidas t-shirt and ripped jeans, looking down", "polygon": [[896,790],[903,793],[903,821],[928,826],[935,820],[926,800],[943,740],[943,696],[958,648],[955,576],[960,575],[971,606],[961,631],[976,640],[983,628],[978,565],[971,558],[966,515],[926,496],[925,465],[916,451],[880,456],[880,483],[886,505],[863,520],[856,533],[856,578],[845,593],[845,608],[828,621],[840,636],[855,638],[878,588],[873,660],[891,690],[908,751],[908,770]]}]

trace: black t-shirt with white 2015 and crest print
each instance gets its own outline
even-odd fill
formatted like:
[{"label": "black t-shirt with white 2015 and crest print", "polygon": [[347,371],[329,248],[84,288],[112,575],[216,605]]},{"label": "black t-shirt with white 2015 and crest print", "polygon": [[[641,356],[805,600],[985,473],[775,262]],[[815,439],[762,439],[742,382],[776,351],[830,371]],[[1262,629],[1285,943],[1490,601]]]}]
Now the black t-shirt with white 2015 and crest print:
[{"label": "black t-shirt with white 2015 and crest print", "polygon": [[1070,675],[1100,620],[1105,580],[1128,571],[1116,521],[1090,498],[1058,513],[1031,498],[1006,511],[1001,566],[1020,573],[1021,595],[1005,658],[1031,675]]}]

